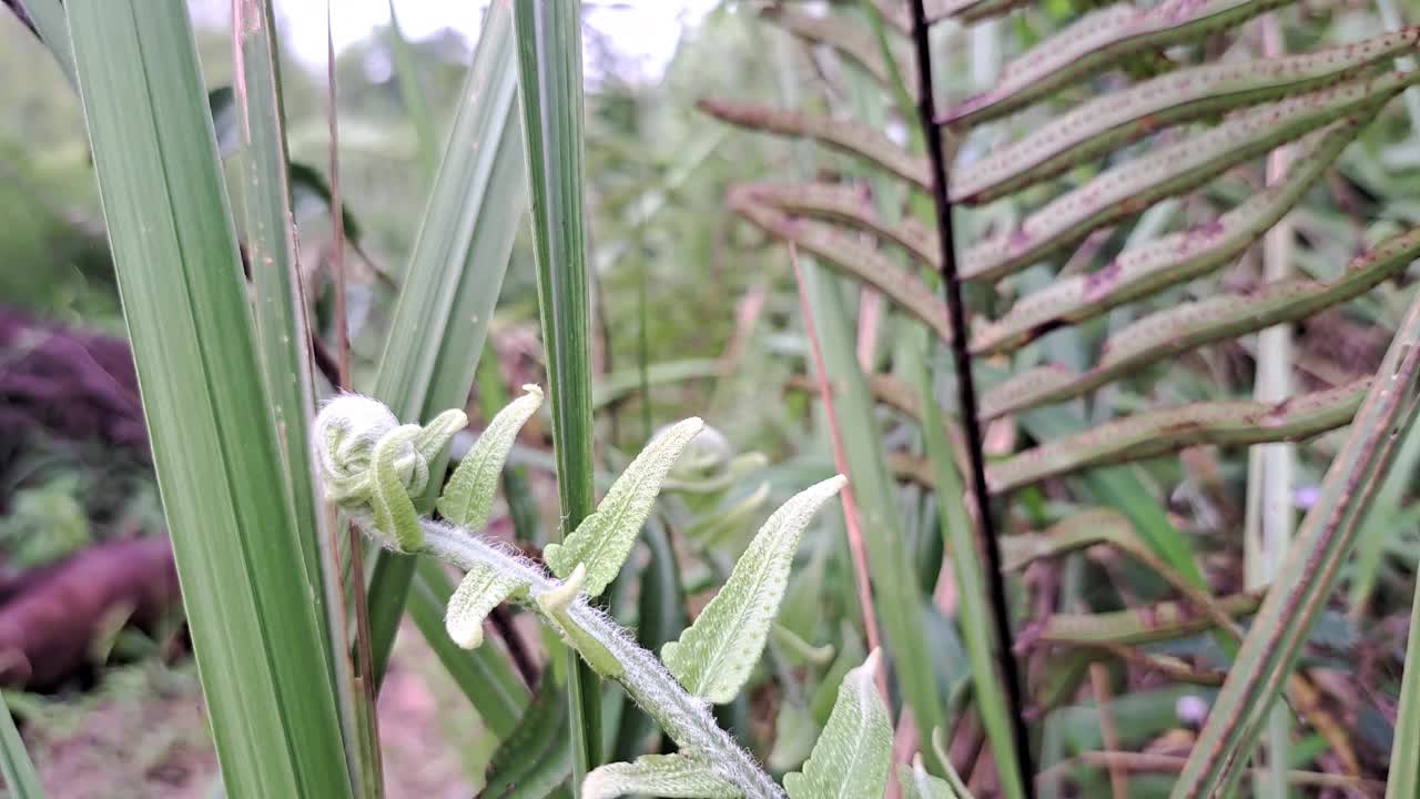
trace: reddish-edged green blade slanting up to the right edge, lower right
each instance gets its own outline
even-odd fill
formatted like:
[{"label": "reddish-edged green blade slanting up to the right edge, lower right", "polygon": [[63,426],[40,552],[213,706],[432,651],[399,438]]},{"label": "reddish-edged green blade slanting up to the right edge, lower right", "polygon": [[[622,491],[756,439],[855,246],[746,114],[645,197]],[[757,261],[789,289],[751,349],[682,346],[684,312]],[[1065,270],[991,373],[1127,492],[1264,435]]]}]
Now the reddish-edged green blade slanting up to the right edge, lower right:
[{"label": "reddish-edged green blade slanting up to the right edge, lower right", "polygon": [[1365,510],[1420,409],[1420,297],[1411,300],[1345,448],[1242,641],[1228,681],[1174,786],[1173,798],[1210,796],[1245,758],[1316,613],[1350,553]]}]

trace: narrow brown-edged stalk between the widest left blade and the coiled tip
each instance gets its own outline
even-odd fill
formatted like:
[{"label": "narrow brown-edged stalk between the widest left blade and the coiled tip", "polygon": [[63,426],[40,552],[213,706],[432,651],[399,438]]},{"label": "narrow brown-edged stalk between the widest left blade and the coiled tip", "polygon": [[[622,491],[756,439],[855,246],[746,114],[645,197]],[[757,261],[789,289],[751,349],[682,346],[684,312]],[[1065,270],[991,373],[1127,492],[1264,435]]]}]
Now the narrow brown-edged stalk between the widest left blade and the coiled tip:
[{"label": "narrow brown-edged stalk between the widest left blade and the coiled tip", "polygon": [[358,687],[346,657],[349,643],[335,518],[320,505],[308,444],[308,421],[315,412],[311,326],[291,223],[290,159],[274,17],[271,4],[263,0],[237,3],[233,9],[237,14],[233,55],[240,74],[236,102],[246,178],[240,195],[261,371],[270,392],[271,415],[281,431],[283,478],[298,525],[297,540],[305,559],[327,667],[337,690],[351,781],[361,796],[378,796],[383,779],[375,709],[368,694]]}]

